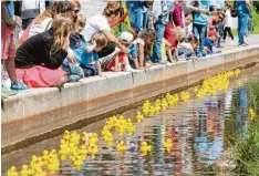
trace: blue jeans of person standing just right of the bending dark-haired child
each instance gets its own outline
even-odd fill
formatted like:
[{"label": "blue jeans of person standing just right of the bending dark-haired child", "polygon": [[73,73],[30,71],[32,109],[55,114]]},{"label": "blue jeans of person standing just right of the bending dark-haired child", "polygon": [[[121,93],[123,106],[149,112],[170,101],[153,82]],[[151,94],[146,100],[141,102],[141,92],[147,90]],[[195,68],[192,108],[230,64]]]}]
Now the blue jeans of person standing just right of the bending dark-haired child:
[{"label": "blue jeans of person standing just right of the bending dark-haired child", "polygon": [[162,23],[156,23],[155,24],[156,29],[156,42],[153,48],[153,62],[160,62],[162,61],[162,42],[164,38],[164,32],[165,32],[165,24]]}]

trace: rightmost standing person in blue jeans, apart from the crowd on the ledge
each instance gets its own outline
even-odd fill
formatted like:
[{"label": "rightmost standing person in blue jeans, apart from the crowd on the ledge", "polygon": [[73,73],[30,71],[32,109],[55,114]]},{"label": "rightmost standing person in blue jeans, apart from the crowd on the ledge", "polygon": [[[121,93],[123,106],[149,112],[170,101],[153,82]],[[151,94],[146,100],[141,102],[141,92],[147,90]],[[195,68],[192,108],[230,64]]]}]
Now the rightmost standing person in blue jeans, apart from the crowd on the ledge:
[{"label": "rightmost standing person in blue jeans, apart from the crowd on the ledge", "polygon": [[238,45],[246,46],[247,43],[244,40],[248,28],[248,18],[251,12],[251,3],[248,0],[235,1],[236,11],[238,14]]}]

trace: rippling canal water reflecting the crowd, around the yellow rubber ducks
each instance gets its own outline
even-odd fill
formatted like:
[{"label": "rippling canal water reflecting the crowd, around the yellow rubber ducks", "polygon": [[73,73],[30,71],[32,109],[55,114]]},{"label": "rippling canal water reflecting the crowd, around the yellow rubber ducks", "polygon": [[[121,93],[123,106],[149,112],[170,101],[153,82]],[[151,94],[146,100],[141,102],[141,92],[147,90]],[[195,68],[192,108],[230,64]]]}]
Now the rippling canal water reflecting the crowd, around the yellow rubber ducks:
[{"label": "rippling canal water reflecting the crowd, around the yellow rubber ducks", "polygon": [[[179,103],[158,115],[147,116],[136,124],[133,136],[114,135],[115,141],[126,139],[127,152],[121,155],[114,147],[107,147],[100,137],[99,153],[94,159],[87,157],[82,172],[74,172],[69,162],[61,165],[59,175],[215,175],[214,164],[224,149],[246,130],[248,99],[247,85],[259,79],[259,66],[241,72],[231,80],[227,92],[203,100],[191,97],[188,103]],[[241,81],[242,85],[237,85]],[[125,112],[125,117],[135,117],[141,107]],[[104,121],[90,124],[77,132],[101,134]],[[32,155],[41,155],[43,149],[56,148],[62,136],[50,138],[2,156],[2,174],[14,165],[20,170],[22,164],[29,164]],[[167,153],[162,146],[165,137],[173,139],[173,151]],[[146,141],[153,147],[143,156],[139,143]]]}]

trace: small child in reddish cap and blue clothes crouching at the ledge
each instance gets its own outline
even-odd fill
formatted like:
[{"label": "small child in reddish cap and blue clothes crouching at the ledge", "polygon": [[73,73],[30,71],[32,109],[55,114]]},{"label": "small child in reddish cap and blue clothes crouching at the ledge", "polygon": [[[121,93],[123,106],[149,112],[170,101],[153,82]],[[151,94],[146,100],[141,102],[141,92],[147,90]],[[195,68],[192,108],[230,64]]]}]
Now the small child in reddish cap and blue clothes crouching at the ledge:
[{"label": "small child in reddish cap and blue clothes crouching at the ledge", "polygon": [[218,34],[216,31],[209,31],[208,33],[208,38],[205,39],[204,41],[204,50],[208,53],[208,54],[213,54],[215,53],[215,42],[218,39]]}]

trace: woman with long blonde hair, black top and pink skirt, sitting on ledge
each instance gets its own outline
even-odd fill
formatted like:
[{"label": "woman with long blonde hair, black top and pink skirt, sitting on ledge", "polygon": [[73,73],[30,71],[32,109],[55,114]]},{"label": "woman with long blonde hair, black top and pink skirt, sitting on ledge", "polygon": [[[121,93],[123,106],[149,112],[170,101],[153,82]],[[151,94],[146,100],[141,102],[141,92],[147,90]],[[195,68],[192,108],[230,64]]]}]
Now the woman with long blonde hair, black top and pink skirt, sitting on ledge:
[{"label": "woman with long blonde hair, black top and pink skirt, sitting on ledge", "polygon": [[[30,87],[61,86],[68,77],[60,68],[68,55],[73,22],[58,14],[52,28],[28,39],[17,51],[18,77]],[[74,61],[70,61],[74,62]]]}]

